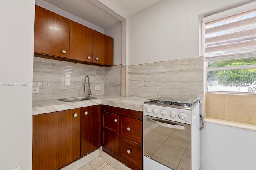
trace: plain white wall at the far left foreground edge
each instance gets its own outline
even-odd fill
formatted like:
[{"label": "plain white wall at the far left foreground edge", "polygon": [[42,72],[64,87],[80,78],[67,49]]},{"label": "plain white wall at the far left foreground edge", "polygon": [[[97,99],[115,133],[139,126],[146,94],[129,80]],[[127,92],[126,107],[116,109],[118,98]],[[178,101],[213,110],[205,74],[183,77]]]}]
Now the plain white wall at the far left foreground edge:
[{"label": "plain white wall at the far left foreground edge", "polygon": [[35,2],[1,0],[1,170],[32,168],[32,83]]}]

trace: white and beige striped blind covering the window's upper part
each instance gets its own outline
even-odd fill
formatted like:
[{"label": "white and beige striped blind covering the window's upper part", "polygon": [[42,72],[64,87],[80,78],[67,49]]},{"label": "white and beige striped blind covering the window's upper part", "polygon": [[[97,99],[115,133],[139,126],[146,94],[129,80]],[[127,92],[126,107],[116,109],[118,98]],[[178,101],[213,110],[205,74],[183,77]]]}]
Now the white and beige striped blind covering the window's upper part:
[{"label": "white and beige striped blind covering the window's upper part", "polygon": [[255,56],[256,9],[204,24],[206,61],[228,56],[232,56],[230,59]]}]

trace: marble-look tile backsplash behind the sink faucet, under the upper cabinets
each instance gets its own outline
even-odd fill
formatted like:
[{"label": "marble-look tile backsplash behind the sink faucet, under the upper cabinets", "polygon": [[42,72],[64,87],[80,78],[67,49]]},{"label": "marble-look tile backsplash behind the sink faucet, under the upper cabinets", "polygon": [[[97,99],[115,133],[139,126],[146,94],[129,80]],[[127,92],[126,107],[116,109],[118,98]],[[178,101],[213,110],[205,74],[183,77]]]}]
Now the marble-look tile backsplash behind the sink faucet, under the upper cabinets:
[{"label": "marble-look tile backsplash behind the sink faucet, under the upper cabinets", "polygon": [[[50,86],[39,86],[39,93],[33,94],[33,100],[87,95],[83,91],[85,75],[90,78],[92,95],[103,95],[104,71],[104,67],[34,57],[33,83],[49,83]],[[95,86],[100,86],[100,91],[95,91]]]}]

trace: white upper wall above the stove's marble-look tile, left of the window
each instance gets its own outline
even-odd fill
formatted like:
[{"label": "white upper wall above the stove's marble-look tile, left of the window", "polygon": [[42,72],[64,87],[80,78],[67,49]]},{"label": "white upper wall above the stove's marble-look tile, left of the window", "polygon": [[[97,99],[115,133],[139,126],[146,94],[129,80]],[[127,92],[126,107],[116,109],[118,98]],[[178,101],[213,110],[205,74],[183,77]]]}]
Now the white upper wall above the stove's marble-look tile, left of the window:
[{"label": "white upper wall above the stove's marble-look tile, left of the window", "polygon": [[243,1],[167,0],[128,20],[128,63],[199,56],[199,14]]}]

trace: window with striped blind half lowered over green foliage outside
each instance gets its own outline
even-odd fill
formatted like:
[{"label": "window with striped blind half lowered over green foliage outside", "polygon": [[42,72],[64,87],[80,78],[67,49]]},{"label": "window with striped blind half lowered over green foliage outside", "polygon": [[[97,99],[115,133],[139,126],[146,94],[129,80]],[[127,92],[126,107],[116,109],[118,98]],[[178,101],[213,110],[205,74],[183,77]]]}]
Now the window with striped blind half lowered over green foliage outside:
[{"label": "window with striped blind half lowered over green foliage outside", "polygon": [[256,93],[255,8],[254,2],[203,18],[208,92]]}]

